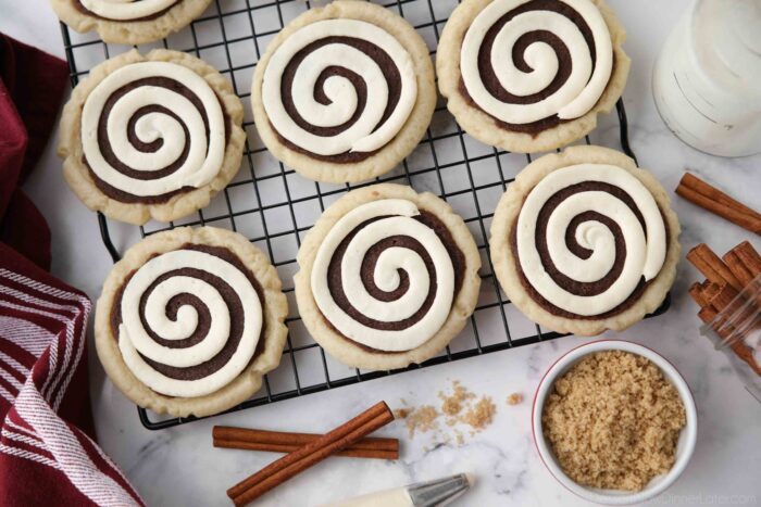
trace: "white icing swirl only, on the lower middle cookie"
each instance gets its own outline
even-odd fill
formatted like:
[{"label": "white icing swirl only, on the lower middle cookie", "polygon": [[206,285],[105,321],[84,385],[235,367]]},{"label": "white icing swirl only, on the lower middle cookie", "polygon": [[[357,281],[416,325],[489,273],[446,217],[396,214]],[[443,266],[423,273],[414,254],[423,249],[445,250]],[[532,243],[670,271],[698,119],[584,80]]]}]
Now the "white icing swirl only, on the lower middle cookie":
[{"label": "white icing swirl only, on the lower middle cookie", "polygon": [[[333,226],[320,245],[312,267],[312,293],[323,316],[345,337],[378,351],[400,352],[415,348],[428,341],[447,320],[454,290],[454,268],[446,246],[436,235],[414,216],[420,211],[403,199],[373,201],[355,207]],[[396,322],[420,310],[431,290],[425,263],[413,250],[390,246],[378,256],[373,280],[378,289],[390,292],[400,284],[399,270],[409,278],[409,288],[395,301],[373,297],[361,280],[362,261],[379,241],[394,236],[414,238],[429,255],[436,272],[433,304],[420,320],[401,330],[384,330],[354,320],[334,301],[328,287],[328,266],[338,245],[363,223],[349,241],[341,259],[341,289],[351,305],[365,317],[380,322]]]}]

